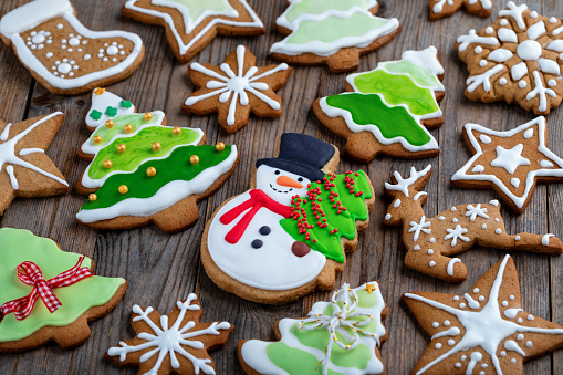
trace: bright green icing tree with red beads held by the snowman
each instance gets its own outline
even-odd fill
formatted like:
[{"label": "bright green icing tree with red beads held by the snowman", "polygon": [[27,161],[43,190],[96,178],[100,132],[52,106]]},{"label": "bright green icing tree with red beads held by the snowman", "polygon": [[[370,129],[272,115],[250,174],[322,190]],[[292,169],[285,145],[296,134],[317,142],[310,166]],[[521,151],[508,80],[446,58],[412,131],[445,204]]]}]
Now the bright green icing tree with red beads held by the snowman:
[{"label": "bright green icing tree with red beads held by the snowman", "polygon": [[[298,227],[298,220],[294,218],[282,219],[280,221],[282,228],[295,240],[303,241],[309,244],[311,249],[323,253],[326,258],[343,263],[346,258],[344,250],[342,249],[341,238],[344,237],[348,240],[353,240],[356,237],[356,220],[367,220],[365,200],[372,198],[372,189],[365,173],[359,170],[357,174],[358,176],[355,176],[355,174],[333,175],[335,176],[333,181],[335,186],[330,190],[326,190],[324,184],[319,184],[317,181],[312,183],[309,187],[310,194],[316,188],[321,189],[321,194],[317,197],[322,198],[320,205],[325,217],[321,218],[321,220],[326,219],[326,228],[321,228],[317,225],[319,219],[315,218],[315,213],[312,208],[313,201],[309,199],[309,197],[306,198],[306,204],[302,200],[299,202],[299,206],[300,208],[305,209],[309,220],[307,223],[313,225],[313,228],[307,230],[310,238],[306,239],[306,233],[299,232],[300,228]],[[354,177],[354,194],[350,194],[350,189],[346,188],[346,184],[344,181],[346,176]],[[358,191],[362,191],[363,195],[356,197],[355,194]],[[341,201],[342,207],[345,207],[346,210],[341,210],[341,213],[337,213],[337,209],[332,207],[333,202],[330,200],[331,192],[338,194],[338,197],[334,199],[335,201]],[[316,200],[315,204],[319,204],[319,201]],[[292,206],[296,207],[296,205],[298,200],[295,199],[293,200]],[[300,219],[302,219],[302,217],[300,217]],[[331,231],[335,228],[337,231],[331,233]]]}]

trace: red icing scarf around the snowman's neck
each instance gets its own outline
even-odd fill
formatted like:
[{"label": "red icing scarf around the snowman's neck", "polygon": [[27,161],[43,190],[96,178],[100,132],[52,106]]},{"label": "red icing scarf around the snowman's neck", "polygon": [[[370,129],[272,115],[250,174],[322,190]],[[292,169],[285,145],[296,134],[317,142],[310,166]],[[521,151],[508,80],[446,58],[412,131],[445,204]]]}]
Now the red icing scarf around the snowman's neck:
[{"label": "red icing scarf around the snowman's neck", "polygon": [[270,211],[273,211],[278,215],[283,216],[284,218],[291,217],[293,213],[293,210],[290,206],[284,206],[282,204],[277,202],[272,198],[268,197],[265,192],[263,192],[260,189],[253,189],[250,190],[250,199],[247,201],[243,201],[239,206],[231,208],[229,211],[225,212],[219,221],[222,225],[228,225],[232,222],[232,220],[237,219],[242,212],[248,210],[250,211],[244,213],[242,219],[240,219],[239,222],[225,236],[225,240],[229,243],[237,243],[242,235],[244,235],[244,231],[247,230],[248,226],[250,225],[250,221],[254,218],[254,215],[257,215],[258,210],[262,207],[268,208]]}]

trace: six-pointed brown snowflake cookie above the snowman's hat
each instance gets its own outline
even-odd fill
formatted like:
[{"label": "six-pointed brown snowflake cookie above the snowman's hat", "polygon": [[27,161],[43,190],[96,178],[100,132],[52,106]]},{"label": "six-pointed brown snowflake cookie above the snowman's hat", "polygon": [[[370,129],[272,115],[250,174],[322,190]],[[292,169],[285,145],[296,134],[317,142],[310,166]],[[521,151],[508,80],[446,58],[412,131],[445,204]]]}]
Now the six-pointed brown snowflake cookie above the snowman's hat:
[{"label": "six-pointed brown snowflake cookie above the snowman's hat", "polygon": [[192,63],[189,77],[201,88],[181,110],[198,116],[219,113],[219,125],[229,134],[248,124],[250,112],[259,117],[280,117],[281,98],[274,91],[285,85],[291,67],[285,63],[257,67],[256,62],[250,50],[239,45],[221,66]]}]

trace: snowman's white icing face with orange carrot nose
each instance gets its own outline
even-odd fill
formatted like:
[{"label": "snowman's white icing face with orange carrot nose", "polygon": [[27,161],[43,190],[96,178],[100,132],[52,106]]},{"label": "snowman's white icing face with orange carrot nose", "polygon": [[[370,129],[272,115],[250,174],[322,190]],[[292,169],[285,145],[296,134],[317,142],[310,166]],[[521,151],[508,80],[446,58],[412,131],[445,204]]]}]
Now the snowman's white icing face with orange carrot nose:
[{"label": "snowman's white icing face with orange carrot nose", "polygon": [[257,170],[257,189],[285,206],[291,205],[291,197],[295,195],[305,197],[309,184],[311,180],[303,176],[267,165],[261,165]]}]

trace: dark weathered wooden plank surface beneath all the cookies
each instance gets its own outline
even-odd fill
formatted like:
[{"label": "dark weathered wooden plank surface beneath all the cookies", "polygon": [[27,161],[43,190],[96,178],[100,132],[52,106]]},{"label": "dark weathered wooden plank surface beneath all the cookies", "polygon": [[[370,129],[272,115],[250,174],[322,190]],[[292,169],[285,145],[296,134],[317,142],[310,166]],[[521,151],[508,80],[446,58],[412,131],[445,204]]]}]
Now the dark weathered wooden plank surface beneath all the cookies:
[{"label": "dark weathered wooden plank surface beneath all the cookies", "polygon": [[[0,1],[0,14],[25,3],[27,0]],[[242,155],[232,177],[213,196],[199,204],[201,219],[188,230],[169,236],[154,226],[125,231],[95,231],[75,222],[75,213],[85,197],[72,191],[48,199],[18,199],[1,218],[2,227],[23,228],[38,236],[49,237],[66,251],[84,253],[96,262],[96,273],[123,277],[129,288],[121,304],[110,315],[94,322],[92,337],[73,350],[48,345],[18,355],[0,355],[0,374],[134,374],[135,369],[121,369],[104,361],[104,352],[119,340],[134,333],[128,325],[133,304],[152,305],[168,313],[177,300],[196,292],[204,304],[204,320],[227,320],[236,325],[228,345],[212,353],[218,374],[239,374],[236,346],[241,338],[273,340],[274,322],[282,317],[299,317],[309,312],[315,301],[329,298],[329,292],[316,292],[294,303],[268,306],[241,300],[219,290],[206,275],[199,262],[199,243],[206,219],[227,198],[248,189],[258,158],[275,154],[279,137],[284,132],[306,133],[337,147],[344,140],[323,126],[311,111],[313,101],[344,91],[346,74],[332,74],[326,66],[295,67],[284,88],[283,116],[280,119],[251,117],[250,124],[229,136],[217,124],[217,116],[196,117],[180,112],[183,101],[194,91],[186,65],[174,58],[163,28],[128,21],[119,8],[124,1],[74,0],[79,19],[92,30],[123,29],[139,34],[146,45],[146,56],[139,70],[128,80],[108,87],[112,92],[133,101],[139,112],[163,110],[169,124],[200,127],[207,133],[208,144],[236,144]],[[494,3],[493,17],[505,7],[504,0]],[[282,37],[275,32],[274,21],[285,8],[284,0],[250,0],[268,34],[258,38],[219,37],[194,61],[219,64],[239,43],[244,43],[257,55],[258,63],[272,63],[268,56],[270,45]],[[544,15],[563,17],[563,2],[557,0],[528,0],[531,9]],[[460,11],[451,18],[428,21],[427,0],[380,0],[382,17],[399,19],[403,31],[375,53],[362,58],[359,71],[375,67],[378,61],[395,60],[407,49],[436,45],[446,69],[446,98],[442,102],[446,123],[432,134],[441,147],[437,158],[409,162],[377,158],[369,165],[343,157],[338,171],[364,168],[375,187],[376,202],[372,209],[369,228],[359,235],[357,249],[347,257],[345,271],[336,278],[340,285],[353,287],[378,279],[389,306],[385,326],[389,338],[383,345],[382,356],[388,374],[407,374],[426,348],[428,337],[417,326],[413,315],[400,302],[407,291],[439,291],[465,293],[504,252],[473,248],[462,253],[469,278],[460,285],[408,270],[404,267],[405,248],[399,229],[382,226],[388,201],[383,199],[383,186],[394,170],[406,173],[431,163],[434,174],[426,187],[429,198],[427,216],[459,204],[487,202],[497,198],[493,191],[455,189],[449,186],[451,175],[470,157],[461,136],[468,122],[493,129],[510,129],[534,118],[518,106],[504,103],[471,103],[463,96],[466,66],[453,51],[455,39],[471,28],[480,30],[494,19],[481,19]],[[31,77],[19,63],[13,51],[0,46],[0,118],[18,122],[54,111],[65,113],[65,123],[48,155],[59,166],[69,183],[74,185],[86,167],[76,149],[88,137],[84,118],[90,108],[90,94],[81,96],[52,95]],[[549,147],[563,155],[561,124],[563,108],[548,116]],[[503,209],[507,231],[552,232],[563,238],[563,185],[540,185],[526,211],[518,217]],[[539,316],[563,324],[563,257],[550,258],[531,253],[513,253],[520,275],[523,308]],[[0,287],[1,288],[1,287]],[[526,374],[557,374],[563,372],[563,351],[546,355],[525,365]]]}]

